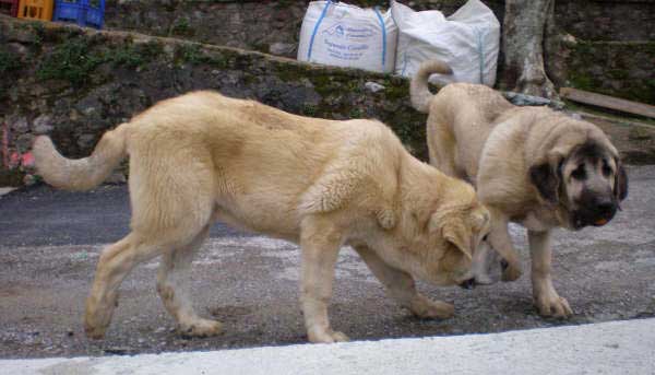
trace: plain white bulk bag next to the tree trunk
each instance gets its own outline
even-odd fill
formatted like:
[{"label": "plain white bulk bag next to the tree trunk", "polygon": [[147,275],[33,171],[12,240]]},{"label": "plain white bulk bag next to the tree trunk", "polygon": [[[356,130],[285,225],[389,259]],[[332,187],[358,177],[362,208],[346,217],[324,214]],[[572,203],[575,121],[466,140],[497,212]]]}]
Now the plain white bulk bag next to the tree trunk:
[{"label": "plain white bulk bag next to the tree trunk", "polygon": [[400,30],[395,72],[413,77],[421,62],[439,59],[453,75],[433,74],[430,82],[484,83],[493,86],[500,44],[500,23],[479,0],[469,0],[453,15],[439,11],[415,12],[392,1]]}]

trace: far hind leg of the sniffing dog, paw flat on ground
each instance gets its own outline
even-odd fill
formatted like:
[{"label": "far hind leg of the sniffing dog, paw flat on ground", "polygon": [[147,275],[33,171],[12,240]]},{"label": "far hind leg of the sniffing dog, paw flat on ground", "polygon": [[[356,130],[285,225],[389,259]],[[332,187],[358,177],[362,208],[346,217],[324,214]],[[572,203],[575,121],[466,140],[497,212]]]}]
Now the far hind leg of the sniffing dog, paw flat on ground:
[{"label": "far hind leg of the sniffing dog, paw flat on ground", "polygon": [[209,233],[210,225],[188,245],[164,254],[159,265],[157,292],[182,336],[209,337],[221,332],[221,323],[199,317],[189,298],[191,261]]}]

